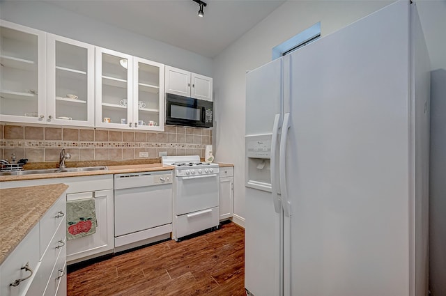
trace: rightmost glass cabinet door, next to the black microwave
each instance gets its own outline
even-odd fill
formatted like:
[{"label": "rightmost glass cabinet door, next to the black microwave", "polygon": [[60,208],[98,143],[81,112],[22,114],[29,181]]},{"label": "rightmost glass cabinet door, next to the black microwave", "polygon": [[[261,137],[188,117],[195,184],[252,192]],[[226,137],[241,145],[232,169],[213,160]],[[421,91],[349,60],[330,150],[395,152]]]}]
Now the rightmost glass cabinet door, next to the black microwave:
[{"label": "rightmost glass cabinet door, next to the black microwave", "polygon": [[133,58],[133,118],[142,130],[164,130],[164,65]]}]

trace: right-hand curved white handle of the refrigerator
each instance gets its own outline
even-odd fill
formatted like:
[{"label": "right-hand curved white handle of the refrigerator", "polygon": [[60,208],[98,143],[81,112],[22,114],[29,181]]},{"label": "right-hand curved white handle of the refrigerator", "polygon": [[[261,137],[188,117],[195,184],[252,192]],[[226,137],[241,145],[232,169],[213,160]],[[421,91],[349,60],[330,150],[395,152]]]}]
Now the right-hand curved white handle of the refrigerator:
[{"label": "right-hand curved white handle of the refrigerator", "polygon": [[291,203],[286,192],[286,137],[288,137],[288,130],[290,114],[284,115],[284,123],[282,125],[282,135],[280,137],[280,151],[279,151],[279,181],[280,194],[282,195],[282,207],[284,208],[285,217],[291,217]]}]

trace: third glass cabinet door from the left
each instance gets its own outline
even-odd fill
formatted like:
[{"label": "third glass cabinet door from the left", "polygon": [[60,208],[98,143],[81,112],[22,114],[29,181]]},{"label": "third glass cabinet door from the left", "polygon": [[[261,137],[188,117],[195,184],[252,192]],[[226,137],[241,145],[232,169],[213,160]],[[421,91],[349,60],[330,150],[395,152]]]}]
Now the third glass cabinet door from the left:
[{"label": "third glass cabinet door from the left", "polygon": [[132,129],[132,56],[96,47],[96,127]]}]

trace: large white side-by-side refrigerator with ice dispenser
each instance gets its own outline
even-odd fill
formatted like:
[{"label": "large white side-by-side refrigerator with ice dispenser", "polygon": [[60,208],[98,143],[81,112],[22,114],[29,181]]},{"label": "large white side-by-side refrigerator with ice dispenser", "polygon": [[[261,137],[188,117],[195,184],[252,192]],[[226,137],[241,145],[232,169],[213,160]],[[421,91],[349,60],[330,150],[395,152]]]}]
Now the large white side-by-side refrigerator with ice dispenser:
[{"label": "large white side-by-side refrigerator with ice dispenser", "polygon": [[429,71],[399,1],[247,74],[247,295],[427,295]]}]

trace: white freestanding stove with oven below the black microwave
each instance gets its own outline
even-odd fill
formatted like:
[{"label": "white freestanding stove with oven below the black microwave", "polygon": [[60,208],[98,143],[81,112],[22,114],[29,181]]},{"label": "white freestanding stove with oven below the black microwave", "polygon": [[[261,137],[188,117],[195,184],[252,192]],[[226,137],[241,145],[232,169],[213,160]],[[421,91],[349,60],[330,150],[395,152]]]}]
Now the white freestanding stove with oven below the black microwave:
[{"label": "white freestanding stove with oven below the black microwave", "polygon": [[174,170],[174,225],[172,237],[216,229],[219,220],[218,164],[201,162],[199,155],[163,156]]}]

